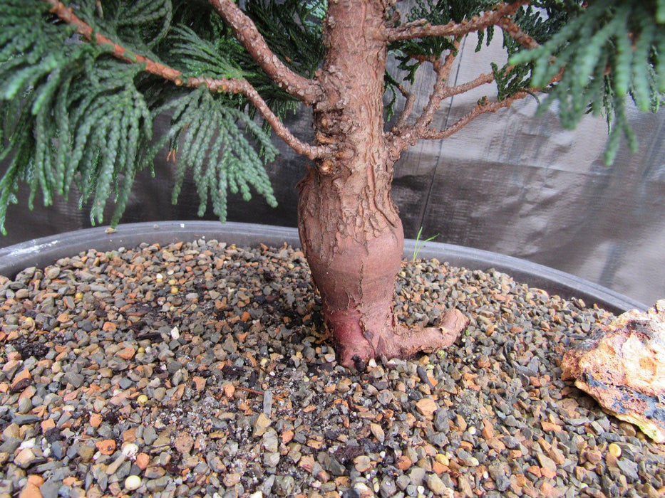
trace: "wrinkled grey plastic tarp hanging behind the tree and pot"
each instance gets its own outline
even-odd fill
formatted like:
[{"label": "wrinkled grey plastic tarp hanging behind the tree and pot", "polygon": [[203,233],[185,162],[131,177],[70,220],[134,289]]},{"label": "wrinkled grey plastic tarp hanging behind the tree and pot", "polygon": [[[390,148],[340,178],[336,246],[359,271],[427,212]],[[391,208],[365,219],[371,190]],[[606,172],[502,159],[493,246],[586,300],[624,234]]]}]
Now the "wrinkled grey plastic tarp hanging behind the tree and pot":
[{"label": "wrinkled grey plastic tarp hanging behind the tree and pot", "polygon": [[[469,40],[453,70],[463,83],[490,71],[501,36],[475,53]],[[416,86],[429,95],[432,81]],[[435,126],[452,123],[492,95],[490,87],[455,97],[437,115]],[[421,102],[422,103],[422,102]],[[510,110],[483,115],[440,142],[419,142],[396,165],[393,198],[406,236],[439,233],[438,242],[491,250],[555,267],[598,282],[645,304],[665,297],[665,112],[632,112],[639,150],[624,147],[613,166],[602,162],[607,125],[587,117],[575,130],[562,129],[553,112],[534,117],[529,98]],[[289,120],[299,137],[311,137],[308,110]],[[296,225],[295,184],[306,161],[280,146],[283,154],[268,166],[279,207],[262,198],[244,203],[230,198],[230,221]],[[4,167],[0,167],[4,171]],[[172,206],[172,171],[160,157],[157,178],[140,175],[123,222],[196,218],[192,184]],[[36,203],[40,203],[38,196]],[[26,209],[27,195],[11,206],[0,246],[90,226],[78,198]],[[212,213],[206,216],[214,219]]]}]

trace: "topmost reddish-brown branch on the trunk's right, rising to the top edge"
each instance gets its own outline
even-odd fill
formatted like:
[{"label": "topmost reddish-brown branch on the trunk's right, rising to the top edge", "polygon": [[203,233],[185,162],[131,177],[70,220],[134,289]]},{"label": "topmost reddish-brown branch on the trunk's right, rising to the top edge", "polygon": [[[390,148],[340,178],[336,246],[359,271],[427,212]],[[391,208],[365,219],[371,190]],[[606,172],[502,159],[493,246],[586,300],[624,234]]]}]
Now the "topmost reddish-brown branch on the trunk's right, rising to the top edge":
[{"label": "topmost reddish-brown branch on the trunk's right, rising to the top edge", "polygon": [[529,0],[518,0],[512,2],[512,4],[498,4],[495,9],[485,11],[480,16],[473,16],[469,21],[462,21],[461,23],[450,21],[444,25],[433,25],[424,19],[404,23],[395,28],[388,28],[388,42],[429,36],[465,36],[490,26],[498,26],[502,19],[512,16],[517,9],[528,3]]}]

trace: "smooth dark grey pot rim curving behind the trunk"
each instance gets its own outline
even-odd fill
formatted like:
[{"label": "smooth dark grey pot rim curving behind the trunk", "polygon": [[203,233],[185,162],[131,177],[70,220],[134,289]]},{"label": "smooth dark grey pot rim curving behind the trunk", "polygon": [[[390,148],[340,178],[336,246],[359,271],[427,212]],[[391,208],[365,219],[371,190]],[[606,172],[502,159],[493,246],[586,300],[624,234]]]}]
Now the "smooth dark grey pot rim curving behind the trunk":
[{"label": "smooth dark grey pot rim curving behind the trunk", "polygon": [[[107,228],[88,228],[0,248],[0,275],[13,278],[26,267],[45,267],[59,258],[76,255],[88,249],[105,251],[120,247],[132,248],[144,242],[166,245],[181,240],[205,238],[241,246],[259,245],[259,243],[279,246],[285,242],[293,247],[300,245],[298,231],[295,228],[249,223],[165,221],[128,223],[118,226],[113,233],[107,233],[107,230]],[[406,258],[411,258],[415,246],[416,240],[405,241]],[[595,303],[616,314],[632,308],[641,310],[647,308],[641,302],[569,273],[486,250],[428,242],[419,251],[418,257],[437,258],[440,261],[448,261],[451,265],[473,270],[494,268],[512,276],[517,282],[525,282],[531,287],[547,291],[550,295],[560,295],[567,299],[578,297],[587,305]]]}]

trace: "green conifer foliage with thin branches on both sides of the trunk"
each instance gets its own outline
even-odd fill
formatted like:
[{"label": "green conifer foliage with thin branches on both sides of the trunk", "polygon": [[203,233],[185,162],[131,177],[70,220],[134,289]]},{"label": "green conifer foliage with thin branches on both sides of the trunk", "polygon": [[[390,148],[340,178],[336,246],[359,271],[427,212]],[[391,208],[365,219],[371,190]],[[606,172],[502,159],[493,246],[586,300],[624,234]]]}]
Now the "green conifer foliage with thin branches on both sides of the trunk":
[{"label": "green conifer foliage with thin branches on both sides of the trunk", "polygon": [[[611,161],[622,135],[634,145],[629,100],[654,111],[665,92],[665,0],[416,0],[400,15],[402,3],[386,2],[388,49],[397,61],[384,80],[391,92],[388,114],[395,105],[409,108],[407,88],[421,66],[438,70],[454,58],[464,36],[478,33],[480,50],[499,30],[508,63],[493,65],[489,76],[468,85],[495,83],[495,102],[479,102],[466,122],[544,92],[542,107],[559,102],[565,126],[574,127],[587,112],[607,117]],[[151,167],[163,147],[176,164],[173,201],[191,171],[199,213],[210,202],[222,220],[227,191],[249,198],[253,188],[275,204],[264,169],[277,154],[272,129],[310,159],[322,157],[323,145],[301,144],[279,126],[280,117],[313,101],[276,84],[214,4],[0,2],[0,160],[9,165],[0,181],[2,231],[22,181],[30,186],[30,206],[40,192],[50,204],[76,184],[81,203],[92,201],[93,223],[103,221],[113,199],[111,222],[118,223],[135,175]],[[324,0],[247,0],[239,6],[280,63],[316,81],[325,54]],[[507,14],[495,15],[501,9]],[[153,137],[160,115],[170,127]],[[406,127],[406,117],[398,120],[395,136],[415,129]],[[448,136],[466,122],[440,132],[416,130],[416,139]]]}]

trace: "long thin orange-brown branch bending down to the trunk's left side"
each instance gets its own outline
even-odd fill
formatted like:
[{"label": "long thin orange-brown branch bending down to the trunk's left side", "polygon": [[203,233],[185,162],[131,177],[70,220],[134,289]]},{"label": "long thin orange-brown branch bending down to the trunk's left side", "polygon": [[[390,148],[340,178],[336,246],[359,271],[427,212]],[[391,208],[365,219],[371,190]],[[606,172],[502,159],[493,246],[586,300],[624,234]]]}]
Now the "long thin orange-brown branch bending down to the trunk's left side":
[{"label": "long thin orange-brown branch bending down to the trunk's left side", "polygon": [[43,1],[51,4],[53,6],[51,8],[51,13],[58,16],[58,18],[61,18],[62,21],[76,28],[76,32],[78,34],[90,41],[95,41],[95,43],[98,45],[110,46],[113,51],[113,55],[116,58],[124,60],[127,63],[145,64],[145,71],[147,73],[160,76],[161,78],[169,80],[178,86],[184,85],[191,88],[197,88],[201,85],[205,85],[211,92],[229,92],[242,94],[244,97],[247,97],[249,102],[252,102],[254,107],[257,108],[263,119],[270,124],[272,129],[274,129],[275,134],[284,140],[284,142],[289,145],[289,147],[294,149],[294,151],[298,154],[313,160],[331,153],[331,149],[327,146],[314,146],[306,144],[295,137],[294,134],[292,134],[292,132],[284,125],[284,123],[279,120],[279,117],[277,117],[277,115],[272,112],[265,100],[263,100],[261,95],[259,95],[259,92],[257,92],[257,90],[247,80],[224,78],[187,78],[186,76],[182,75],[180,70],[170,68],[169,66],[162,63],[155,62],[150,58],[144,57],[143,55],[130,52],[103,34],[93,33],[91,26],[88,26],[85,21],[76,16],[76,14],[74,14],[73,11],[65,6],[61,1]]}]

